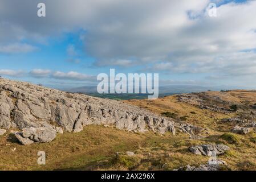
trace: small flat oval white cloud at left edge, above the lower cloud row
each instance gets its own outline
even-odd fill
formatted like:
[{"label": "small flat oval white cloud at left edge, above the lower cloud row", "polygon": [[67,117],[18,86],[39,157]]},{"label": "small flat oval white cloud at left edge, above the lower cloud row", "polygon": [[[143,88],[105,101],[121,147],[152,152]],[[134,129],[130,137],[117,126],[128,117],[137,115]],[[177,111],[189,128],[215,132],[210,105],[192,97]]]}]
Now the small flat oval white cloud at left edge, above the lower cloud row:
[{"label": "small flat oval white cloud at left edge, above the lower cloud row", "polygon": [[26,43],[14,43],[0,46],[0,53],[27,53],[35,51],[36,47]]}]

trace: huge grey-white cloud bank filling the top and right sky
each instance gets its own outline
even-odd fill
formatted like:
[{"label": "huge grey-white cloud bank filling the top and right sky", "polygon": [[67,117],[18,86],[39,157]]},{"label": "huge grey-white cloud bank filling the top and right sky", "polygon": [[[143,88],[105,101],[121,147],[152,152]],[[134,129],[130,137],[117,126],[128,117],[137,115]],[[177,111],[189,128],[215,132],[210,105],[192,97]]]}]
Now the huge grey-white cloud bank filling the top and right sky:
[{"label": "huge grey-white cloud bank filling the top and right sky", "polygon": [[[39,19],[36,2],[1,1],[0,40],[38,41],[82,28],[86,52],[97,66],[152,63],[148,69],[176,73],[254,74],[255,51],[242,51],[256,48],[256,1],[222,5],[216,18],[205,9],[222,0],[42,2],[47,14]],[[67,52],[74,55],[75,47]]]}]

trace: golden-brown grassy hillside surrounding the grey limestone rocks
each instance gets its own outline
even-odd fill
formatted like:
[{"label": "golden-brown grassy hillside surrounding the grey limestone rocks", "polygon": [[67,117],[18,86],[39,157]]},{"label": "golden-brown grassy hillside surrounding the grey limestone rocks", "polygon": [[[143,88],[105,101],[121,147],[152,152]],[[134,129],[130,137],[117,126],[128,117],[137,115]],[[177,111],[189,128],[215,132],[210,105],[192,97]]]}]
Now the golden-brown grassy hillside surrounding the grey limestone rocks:
[{"label": "golden-brown grassy hillside surrounding the grey limestone rocks", "polygon": [[[205,96],[226,100],[228,105],[239,107],[255,104],[255,92],[207,92]],[[208,98],[208,97],[207,97]],[[209,101],[209,98],[207,100]],[[58,134],[51,143],[34,143],[22,146],[13,134],[0,137],[0,169],[26,170],[172,170],[188,164],[205,164],[209,157],[197,156],[188,151],[194,144],[223,143],[230,147],[218,159],[225,160],[232,170],[256,170],[256,134],[230,133],[234,123],[223,123],[222,118],[237,117],[239,111],[222,113],[200,109],[196,105],[178,101],[178,96],[168,96],[157,100],[124,101],[149,109],[154,113],[173,113],[170,117],[193,123],[208,129],[205,138],[189,139],[188,134],[177,132],[160,135],[153,132],[127,133],[112,127],[87,126],[80,133]],[[217,101],[212,101],[218,104]],[[212,103],[210,102],[210,103]],[[212,104],[213,104],[212,103]],[[226,103],[226,102],[225,102]],[[167,114],[168,115],[168,114]],[[45,151],[46,165],[37,164],[37,152]],[[124,152],[135,152],[134,156]],[[119,152],[119,155],[116,155]]]}]

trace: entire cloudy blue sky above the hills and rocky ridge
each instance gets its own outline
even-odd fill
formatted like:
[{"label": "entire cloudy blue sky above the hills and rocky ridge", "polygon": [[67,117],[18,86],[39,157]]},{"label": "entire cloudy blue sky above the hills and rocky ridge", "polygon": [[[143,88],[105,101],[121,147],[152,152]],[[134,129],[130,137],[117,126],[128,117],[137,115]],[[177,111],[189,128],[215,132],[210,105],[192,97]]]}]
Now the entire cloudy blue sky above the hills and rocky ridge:
[{"label": "entire cloudy blue sky above the hills and rocky ridge", "polygon": [[159,73],[160,84],[256,88],[255,17],[245,0],[0,0],[0,75],[68,88],[115,68]]}]

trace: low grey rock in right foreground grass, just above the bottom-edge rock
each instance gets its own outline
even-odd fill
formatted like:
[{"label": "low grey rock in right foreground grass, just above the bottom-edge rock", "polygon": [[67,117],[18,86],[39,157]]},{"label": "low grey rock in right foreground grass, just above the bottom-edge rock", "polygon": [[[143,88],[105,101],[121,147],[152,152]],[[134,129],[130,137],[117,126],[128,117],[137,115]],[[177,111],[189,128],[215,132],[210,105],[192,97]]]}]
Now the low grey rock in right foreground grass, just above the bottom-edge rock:
[{"label": "low grey rock in right foreground grass, just above the bottom-edge rock", "polygon": [[189,151],[196,155],[213,156],[224,154],[225,151],[229,150],[228,146],[224,144],[202,144],[200,146],[189,147]]}]

